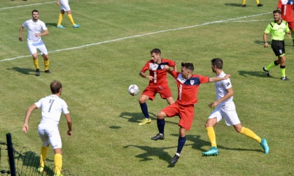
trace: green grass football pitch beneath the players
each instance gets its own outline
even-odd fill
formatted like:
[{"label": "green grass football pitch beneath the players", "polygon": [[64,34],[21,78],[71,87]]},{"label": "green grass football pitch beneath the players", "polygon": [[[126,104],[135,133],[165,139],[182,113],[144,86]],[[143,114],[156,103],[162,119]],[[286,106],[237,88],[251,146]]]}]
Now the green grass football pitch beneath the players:
[{"label": "green grass football pitch beneath the players", "polygon": [[[87,0],[70,1],[73,19],[80,29],[73,29],[66,15],[57,29],[59,8],[53,0],[1,1],[0,15],[0,140],[11,133],[13,142],[39,153],[41,142],[37,126],[41,110],[31,115],[29,133],[22,132],[29,105],[50,94],[49,84],[63,84],[62,98],[69,105],[73,136],[66,136],[62,116],[63,166],[76,175],[294,175],[293,169],[293,82],[294,47],[286,39],[286,75],[279,80],[279,67],[267,78],[262,66],[276,59],[272,49],[264,48],[262,34],[272,21],[277,1],[241,0],[207,2],[175,0]],[[50,71],[34,75],[34,64],[27,42],[18,41],[22,22],[31,18],[31,10],[40,11],[49,36]],[[24,38],[27,38],[25,29]],[[270,41],[270,38],[268,38]],[[176,152],[178,117],[166,119],[165,140],[152,141],[158,133],[156,115],[167,102],[148,101],[153,122],[138,123],[144,116],[138,96],[127,94],[131,84],[140,91],[148,80],[139,71],[149,51],[158,47],[162,57],[193,62],[195,73],[214,76],[210,60],[220,57],[225,73],[231,74],[235,104],[242,124],[267,138],[269,154],[262,147],[236,133],[221,122],[215,128],[219,156],[203,157],[210,148],[204,124],[215,99],[214,84],[200,86],[195,119],[188,131],[186,146],[175,166],[169,160]],[[180,69],[178,67],[178,69]],[[169,85],[176,99],[176,85],[169,75]],[[51,149],[51,148],[50,148]],[[53,160],[50,150],[48,159]]]}]

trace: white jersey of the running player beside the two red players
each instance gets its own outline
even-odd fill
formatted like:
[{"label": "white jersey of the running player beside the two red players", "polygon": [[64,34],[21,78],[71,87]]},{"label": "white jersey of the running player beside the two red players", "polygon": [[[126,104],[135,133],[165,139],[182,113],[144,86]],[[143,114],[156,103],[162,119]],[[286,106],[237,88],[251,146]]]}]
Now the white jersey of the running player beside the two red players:
[{"label": "white jersey of the running player beside the two red players", "polygon": [[[224,78],[225,75],[226,74],[222,71],[221,74],[216,77],[217,78]],[[216,100],[219,100],[219,99],[223,98],[226,94],[228,94],[227,89],[232,87],[230,78],[228,78],[227,80],[221,80],[218,82],[214,82],[214,84],[216,85]],[[226,103],[232,103],[232,99],[233,99],[233,96],[231,96],[230,98],[226,99],[225,101],[219,103],[218,106],[225,105]]]}]

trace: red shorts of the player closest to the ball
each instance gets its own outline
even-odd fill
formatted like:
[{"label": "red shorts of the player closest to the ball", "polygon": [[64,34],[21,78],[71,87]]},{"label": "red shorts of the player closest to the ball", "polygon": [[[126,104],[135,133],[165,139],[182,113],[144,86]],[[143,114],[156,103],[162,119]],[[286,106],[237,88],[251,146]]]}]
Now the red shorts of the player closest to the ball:
[{"label": "red shorts of the player closest to the ball", "polygon": [[148,87],[146,87],[146,89],[142,92],[142,95],[148,96],[149,99],[153,101],[157,93],[160,94],[160,97],[164,99],[172,97],[172,91],[169,89],[169,85],[148,85]]}]

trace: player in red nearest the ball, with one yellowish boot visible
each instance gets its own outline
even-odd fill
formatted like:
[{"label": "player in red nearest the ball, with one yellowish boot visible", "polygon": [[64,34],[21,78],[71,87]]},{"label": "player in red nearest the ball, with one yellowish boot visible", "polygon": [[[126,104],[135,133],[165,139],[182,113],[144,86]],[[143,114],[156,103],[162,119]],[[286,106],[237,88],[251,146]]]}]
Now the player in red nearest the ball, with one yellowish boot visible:
[{"label": "player in red nearest the ball, with one yellowish boot visible", "polygon": [[[151,123],[146,101],[148,101],[148,99],[153,101],[155,94],[159,93],[161,98],[166,99],[169,105],[174,103],[174,99],[172,98],[172,91],[169,89],[167,81],[167,71],[165,70],[165,66],[172,66],[176,71],[176,62],[161,58],[161,51],[158,48],[151,50],[150,53],[151,60],[147,61],[139,73],[141,77],[147,78],[149,80],[148,87],[146,87],[139,98],[139,104],[145,116],[145,119],[139,123],[139,125]],[[149,75],[145,74],[147,70],[149,70]]]}]

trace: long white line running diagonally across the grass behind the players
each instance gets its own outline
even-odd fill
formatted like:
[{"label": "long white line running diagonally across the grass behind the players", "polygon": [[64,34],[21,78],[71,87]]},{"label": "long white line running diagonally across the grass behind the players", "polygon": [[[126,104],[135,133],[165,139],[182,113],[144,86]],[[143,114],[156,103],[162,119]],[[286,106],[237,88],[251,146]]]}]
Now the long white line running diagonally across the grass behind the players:
[{"label": "long white line running diagonally across the grass behind the players", "polygon": [[[272,13],[272,12],[270,12],[270,13]],[[111,43],[111,42],[116,42],[116,41],[123,41],[123,40],[129,39],[129,38],[138,38],[138,37],[141,37],[141,36],[150,36],[150,35],[153,35],[153,34],[159,34],[159,33],[163,33],[163,32],[178,31],[178,30],[183,30],[183,29],[190,29],[190,28],[201,27],[201,26],[204,26],[204,25],[209,25],[209,24],[214,24],[214,23],[230,22],[230,21],[233,21],[233,20],[240,20],[240,19],[244,19],[244,18],[248,18],[248,17],[258,17],[260,15],[267,15],[267,14],[269,14],[269,13],[260,13],[258,15],[250,15],[250,16],[244,16],[244,17],[236,17],[236,18],[231,18],[231,19],[228,19],[228,20],[219,20],[219,21],[215,21],[215,22],[206,22],[206,23],[203,23],[203,24],[196,24],[196,25],[193,25],[193,26],[190,26],[190,27],[180,27],[180,28],[175,28],[175,29],[167,29],[167,30],[162,30],[162,31],[155,31],[155,32],[146,33],[146,34],[140,34],[140,35],[134,35],[134,36],[126,36],[126,37],[123,37],[123,38],[116,38],[116,39],[113,39],[113,40],[110,40],[110,41],[102,41],[102,42],[98,42],[98,43],[90,43],[90,44],[87,44],[87,45],[80,45],[80,46],[77,46],[77,47],[68,47],[68,48],[64,48],[64,49],[61,49],[61,50],[54,50],[54,51],[50,51],[48,53],[61,52],[61,51],[66,51],[66,50],[75,50],[75,49],[79,49],[79,48],[82,48],[82,47],[88,47],[88,46],[92,46],[92,45],[101,45],[101,44],[104,44],[104,43]],[[251,21],[244,21],[244,22],[251,22]],[[256,21],[260,21],[260,20],[256,20]],[[240,21],[237,21],[237,22],[240,22]],[[24,57],[31,57],[31,55],[20,56],[20,57],[13,57],[13,58],[9,58],[9,59],[2,59],[0,61],[10,61],[10,60],[20,59],[20,58],[24,58]]]}]

